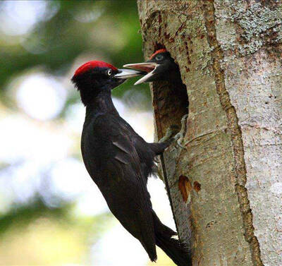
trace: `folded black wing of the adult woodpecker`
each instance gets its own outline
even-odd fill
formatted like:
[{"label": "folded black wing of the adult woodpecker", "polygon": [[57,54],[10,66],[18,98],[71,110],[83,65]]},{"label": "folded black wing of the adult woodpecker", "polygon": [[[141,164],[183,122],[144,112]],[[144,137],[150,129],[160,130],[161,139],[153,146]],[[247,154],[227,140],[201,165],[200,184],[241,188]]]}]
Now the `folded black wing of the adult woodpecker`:
[{"label": "folded black wing of the adult woodpecker", "polygon": [[119,116],[99,116],[82,134],[82,155],[109,209],[154,260],[152,203],[147,176],[133,143],[133,129]]}]

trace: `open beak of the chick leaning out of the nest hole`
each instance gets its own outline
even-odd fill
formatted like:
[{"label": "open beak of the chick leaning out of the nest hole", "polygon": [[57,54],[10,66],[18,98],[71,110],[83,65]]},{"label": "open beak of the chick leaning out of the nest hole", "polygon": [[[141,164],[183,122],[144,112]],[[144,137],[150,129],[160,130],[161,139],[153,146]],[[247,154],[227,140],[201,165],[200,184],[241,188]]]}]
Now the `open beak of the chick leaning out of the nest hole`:
[{"label": "open beak of the chick leaning out of the nest hole", "polygon": [[157,74],[158,67],[161,66],[160,64],[154,63],[154,62],[145,62],[145,63],[137,63],[137,64],[127,64],[124,65],[125,68],[134,68],[142,71],[142,73],[147,73],[143,78],[140,78],[140,80],[137,80],[134,85],[138,85],[141,83],[149,82],[151,80],[154,80],[154,75]]}]

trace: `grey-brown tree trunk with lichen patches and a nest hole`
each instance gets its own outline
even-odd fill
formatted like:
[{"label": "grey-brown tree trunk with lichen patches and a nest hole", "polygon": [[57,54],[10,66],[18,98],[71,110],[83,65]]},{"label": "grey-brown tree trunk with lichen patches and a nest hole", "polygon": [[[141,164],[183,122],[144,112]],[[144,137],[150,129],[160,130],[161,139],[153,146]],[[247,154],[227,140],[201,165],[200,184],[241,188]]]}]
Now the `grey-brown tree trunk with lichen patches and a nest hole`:
[{"label": "grey-brown tree trunk with lichen patches and a nest hole", "polygon": [[137,6],[145,58],[166,47],[185,85],[151,91],[157,138],[189,111],[186,149],[171,147],[164,164],[193,265],[282,265],[281,1]]}]

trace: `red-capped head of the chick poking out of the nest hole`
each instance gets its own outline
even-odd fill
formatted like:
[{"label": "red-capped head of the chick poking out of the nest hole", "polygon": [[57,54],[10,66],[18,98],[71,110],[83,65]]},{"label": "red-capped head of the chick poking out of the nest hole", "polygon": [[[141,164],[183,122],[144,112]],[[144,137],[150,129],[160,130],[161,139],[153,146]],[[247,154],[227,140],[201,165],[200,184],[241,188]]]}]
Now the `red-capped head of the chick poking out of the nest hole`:
[{"label": "red-capped head of the chick poking out of the nest hole", "polygon": [[126,68],[134,68],[143,71],[146,75],[137,80],[135,85],[157,80],[170,80],[178,71],[178,66],[166,49],[154,52],[148,61],[144,63],[126,64]]}]

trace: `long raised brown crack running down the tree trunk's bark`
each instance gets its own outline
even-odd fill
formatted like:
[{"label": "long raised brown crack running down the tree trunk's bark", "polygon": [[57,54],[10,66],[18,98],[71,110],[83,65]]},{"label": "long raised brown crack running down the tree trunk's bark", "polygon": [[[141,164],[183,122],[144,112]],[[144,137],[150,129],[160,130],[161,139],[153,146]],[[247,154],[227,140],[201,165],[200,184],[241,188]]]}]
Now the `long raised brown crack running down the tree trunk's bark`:
[{"label": "long raised brown crack running down the tree trunk's bark", "polygon": [[207,29],[207,40],[209,42],[209,46],[214,48],[212,49],[210,55],[212,58],[212,68],[214,70],[216,80],[216,92],[219,95],[221,106],[226,112],[228,131],[231,133],[235,159],[235,191],[238,195],[240,212],[243,217],[245,240],[250,245],[253,264],[256,266],[262,266],[263,263],[260,255],[259,241],[254,233],[255,229],[252,224],[252,211],[250,210],[250,202],[247,198],[247,189],[245,188],[247,171],[245,167],[242,132],[238,124],[238,117],[235,108],[231,104],[230,97],[225,87],[224,71],[221,69],[220,62],[223,59],[223,52],[216,39],[214,0],[202,1],[202,7]]}]

